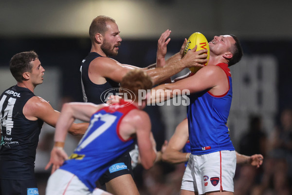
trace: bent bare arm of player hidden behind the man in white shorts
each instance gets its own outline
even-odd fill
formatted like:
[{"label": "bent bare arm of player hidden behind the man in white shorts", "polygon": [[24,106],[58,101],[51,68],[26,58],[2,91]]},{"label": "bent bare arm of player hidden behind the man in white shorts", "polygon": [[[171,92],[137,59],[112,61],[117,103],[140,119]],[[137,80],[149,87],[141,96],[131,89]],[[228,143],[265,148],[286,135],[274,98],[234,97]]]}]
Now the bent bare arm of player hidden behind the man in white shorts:
[{"label": "bent bare arm of player hidden behind the man in white shorts", "polygon": [[188,124],[184,119],[176,128],[173,136],[170,138],[168,146],[162,155],[163,161],[169,163],[186,162],[190,153],[181,152],[188,140]]}]

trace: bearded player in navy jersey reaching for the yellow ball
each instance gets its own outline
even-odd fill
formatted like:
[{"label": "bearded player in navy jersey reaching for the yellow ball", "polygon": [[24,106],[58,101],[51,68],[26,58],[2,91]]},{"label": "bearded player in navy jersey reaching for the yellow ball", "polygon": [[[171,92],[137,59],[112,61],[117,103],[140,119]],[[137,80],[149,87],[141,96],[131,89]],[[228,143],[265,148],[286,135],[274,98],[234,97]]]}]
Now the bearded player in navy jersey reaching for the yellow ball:
[{"label": "bearded player in navy jersey reaching for the yellow ball", "polygon": [[[171,31],[166,30],[159,39],[159,45],[164,45],[169,42],[167,39]],[[155,64],[147,68],[138,68],[135,66],[121,64],[118,61],[109,58],[118,54],[119,46],[121,45],[121,37],[118,25],[115,20],[106,16],[98,16],[91,22],[89,29],[91,38],[91,51],[89,55],[82,60],[80,67],[81,83],[83,90],[84,102],[103,103],[107,101],[110,95],[115,95],[115,88],[123,76],[132,69],[142,69],[152,78],[153,84],[158,84],[167,78],[179,73],[185,67],[202,66],[207,60],[204,59],[201,51],[197,53],[189,52],[183,59],[183,44],[181,51],[172,56],[166,63],[160,63],[155,67]],[[167,39],[167,40],[166,40]],[[160,49],[161,47],[159,47]],[[157,56],[157,60],[160,57]],[[127,170],[117,172],[106,172],[101,177],[99,182],[103,185],[106,183],[107,191],[115,195],[135,195],[138,190],[132,178],[128,177],[131,174],[131,158],[129,153],[125,153],[116,163],[125,163],[128,166]],[[114,181],[111,181],[112,179]],[[123,186],[127,185],[125,189]]]}]

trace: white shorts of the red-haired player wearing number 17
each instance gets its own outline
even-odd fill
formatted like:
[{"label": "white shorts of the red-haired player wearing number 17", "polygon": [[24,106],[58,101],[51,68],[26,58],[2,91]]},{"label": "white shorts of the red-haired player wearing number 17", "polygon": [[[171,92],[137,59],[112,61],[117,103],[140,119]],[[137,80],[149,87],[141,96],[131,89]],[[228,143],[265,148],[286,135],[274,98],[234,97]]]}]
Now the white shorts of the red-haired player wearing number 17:
[{"label": "white shorts of the red-haired player wearing number 17", "polygon": [[46,195],[102,195],[106,193],[101,189],[95,189],[93,192],[72,173],[57,169],[49,177]]}]

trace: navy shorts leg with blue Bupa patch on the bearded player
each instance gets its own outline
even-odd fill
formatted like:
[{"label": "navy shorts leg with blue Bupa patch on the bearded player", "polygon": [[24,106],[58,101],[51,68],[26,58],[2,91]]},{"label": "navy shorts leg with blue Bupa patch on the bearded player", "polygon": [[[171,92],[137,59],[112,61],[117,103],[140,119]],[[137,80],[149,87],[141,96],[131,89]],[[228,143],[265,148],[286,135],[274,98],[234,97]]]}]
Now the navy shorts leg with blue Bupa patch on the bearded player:
[{"label": "navy shorts leg with blue Bupa patch on the bearded player", "polygon": [[126,174],[130,174],[133,177],[131,156],[128,152],[124,153],[121,157],[119,157],[110,166],[110,168],[99,178],[98,182],[100,185],[104,185],[111,179]]}]

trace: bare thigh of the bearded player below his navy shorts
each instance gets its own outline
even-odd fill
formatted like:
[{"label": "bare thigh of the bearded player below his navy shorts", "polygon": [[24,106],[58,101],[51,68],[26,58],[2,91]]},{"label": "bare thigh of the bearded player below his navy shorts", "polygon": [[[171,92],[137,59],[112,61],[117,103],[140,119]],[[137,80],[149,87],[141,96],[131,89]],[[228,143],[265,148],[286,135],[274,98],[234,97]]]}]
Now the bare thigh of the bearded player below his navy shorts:
[{"label": "bare thigh of the bearded player below his navy shorts", "polygon": [[113,195],[139,195],[139,191],[129,174],[115,177],[106,183],[107,191]]}]

